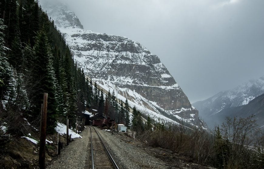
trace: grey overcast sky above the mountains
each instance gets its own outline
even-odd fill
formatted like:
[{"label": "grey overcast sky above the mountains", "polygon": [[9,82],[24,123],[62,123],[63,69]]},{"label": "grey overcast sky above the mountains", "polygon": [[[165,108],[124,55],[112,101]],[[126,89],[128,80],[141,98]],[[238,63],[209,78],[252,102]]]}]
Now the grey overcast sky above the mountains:
[{"label": "grey overcast sky above the mountains", "polygon": [[60,0],[84,29],[143,44],[191,103],[264,75],[264,0]]}]

